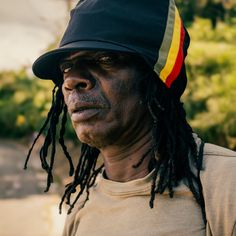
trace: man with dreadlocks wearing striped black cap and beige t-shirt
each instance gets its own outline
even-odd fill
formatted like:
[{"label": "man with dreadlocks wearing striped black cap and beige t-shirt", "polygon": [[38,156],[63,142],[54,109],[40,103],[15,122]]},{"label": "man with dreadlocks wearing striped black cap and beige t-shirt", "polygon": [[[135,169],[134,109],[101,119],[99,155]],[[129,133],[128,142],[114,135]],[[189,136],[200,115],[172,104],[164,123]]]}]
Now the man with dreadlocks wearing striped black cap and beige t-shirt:
[{"label": "man with dreadlocks wearing striped black cap and beige t-shirt", "polygon": [[[64,235],[236,234],[236,154],[204,145],[180,102],[188,46],[173,0],[85,0],[60,47],[34,63],[36,76],[55,83],[39,132],[47,131],[46,191],[61,113],[59,142],[74,174],[61,201],[70,206]],[[82,142],[75,173],[67,111]]]}]

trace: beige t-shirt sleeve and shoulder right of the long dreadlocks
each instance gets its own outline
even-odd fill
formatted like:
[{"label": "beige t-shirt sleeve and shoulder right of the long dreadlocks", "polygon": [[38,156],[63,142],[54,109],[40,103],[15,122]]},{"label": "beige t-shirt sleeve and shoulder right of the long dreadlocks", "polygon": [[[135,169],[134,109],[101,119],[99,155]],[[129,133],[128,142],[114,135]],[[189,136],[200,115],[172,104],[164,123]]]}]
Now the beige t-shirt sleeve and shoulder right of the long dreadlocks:
[{"label": "beige t-shirt sleeve and shoulder right of the long dreadlocks", "polygon": [[201,182],[207,235],[236,235],[236,153],[206,145]]}]

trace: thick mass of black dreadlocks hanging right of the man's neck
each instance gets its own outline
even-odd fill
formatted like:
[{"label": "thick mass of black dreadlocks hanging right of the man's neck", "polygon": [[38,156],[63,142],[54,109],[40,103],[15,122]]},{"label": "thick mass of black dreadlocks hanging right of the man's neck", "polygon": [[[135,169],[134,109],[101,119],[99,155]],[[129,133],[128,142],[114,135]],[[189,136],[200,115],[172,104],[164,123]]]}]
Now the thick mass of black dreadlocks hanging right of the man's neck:
[{"label": "thick mass of black dreadlocks hanging right of the man's neck", "polygon": [[162,194],[166,189],[172,198],[174,187],[183,180],[200,205],[206,223],[200,181],[204,143],[201,143],[198,151],[192,128],[186,120],[183,103],[162,84],[157,75],[152,72],[145,82],[148,91],[146,102],[153,119],[154,140],[154,159],[150,163],[154,174],[149,205],[153,208],[156,194]]}]

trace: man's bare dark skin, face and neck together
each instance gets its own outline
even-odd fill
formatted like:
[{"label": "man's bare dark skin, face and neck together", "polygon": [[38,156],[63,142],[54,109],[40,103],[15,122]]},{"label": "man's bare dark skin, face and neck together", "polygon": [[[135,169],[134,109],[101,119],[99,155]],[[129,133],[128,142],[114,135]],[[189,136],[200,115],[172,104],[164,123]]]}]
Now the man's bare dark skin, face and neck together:
[{"label": "man's bare dark skin, face and neck together", "polygon": [[106,53],[84,51],[67,57],[61,70],[75,132],[81,142],[100,150],[107,178],[126,182],[146,176],[153,155],[152,121],[138,89],[137,68],[113,63]]}]

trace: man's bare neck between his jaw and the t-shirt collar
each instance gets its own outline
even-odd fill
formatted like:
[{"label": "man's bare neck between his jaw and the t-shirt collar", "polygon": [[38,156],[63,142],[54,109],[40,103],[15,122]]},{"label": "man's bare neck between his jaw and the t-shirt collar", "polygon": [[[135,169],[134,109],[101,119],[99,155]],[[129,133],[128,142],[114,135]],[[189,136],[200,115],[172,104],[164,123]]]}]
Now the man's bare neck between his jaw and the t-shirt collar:
[{"label": "man's bare neck between his jaw and the t-shirt collar", "polygon": [[[142,178],[149,173],[148,164],[153,156],[151,131],[147,131],[131,144],[112,145],[100,151],[108,179],[127,182]],[[143,161],[140,163],[141,159]]]}]

